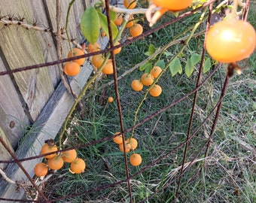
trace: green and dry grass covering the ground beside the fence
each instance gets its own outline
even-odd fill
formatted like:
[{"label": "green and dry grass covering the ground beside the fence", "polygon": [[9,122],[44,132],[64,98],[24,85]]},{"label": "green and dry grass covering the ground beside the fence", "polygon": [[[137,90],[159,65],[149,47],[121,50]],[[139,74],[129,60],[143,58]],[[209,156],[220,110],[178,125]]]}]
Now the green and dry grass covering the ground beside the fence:
[{"label": "green and dry grass covering the ground beside the fence", "polygon": [[[256,14],[252,9],[249,16],[251,23],[255,22]],[[184,23],[196,22],[195,18],[176,23],[176,34],[178,30],[184,30]],[[146,59],[147,56],[143,53],[148,50],[150,43],[154,43],[155,47],[163,47],[172,39],[172,35],[166,33],[173,34],[174,26],[166,27],[145,40],[123,47],[120,55],[117,55],[118,75]],[[190,43],[190,50],[185,50],[187,53],[197,50],[196,47],[202,47],[200,38]],[[178,48],[180,45],[173,46],[169,51],[177,51]],[[196,159],[196,162],[190,165],[181,177],[177,202],[256,201],[255,162],[254,154],[250,150],[255,150],[253,147],[256,145],[255,61],[256,54],[251,56],[248,61],[250,67],[245,69],[242,75],[230,78],[207,159],[198,160],[204,157],[214,115],[190,140],[185,162],[193,159]],[[141,74],[142,72],[136,69],[118,81],[125,129],[133,126],[135,111],[146,90],[134,92],[130,88],[131,81],[139,78]],[[203,78],[206,76],[207,74],[204,74]],[[225,70],[221,68],[198,92],[192,133],[218,102],[224,76]],[[104,77],[99,80],[97,86],[100,87],[111,80],[111,76]],[[194,89],[196,80],[197,71],[189,78],[185,74],[172,77],[169,71],[166,71],[158,82],[163,88],[162,95],[159,98],[151,98],[148,95],[139,109],[137,122],[190,92]],[[65,169],[57,171],[47,181],[45,194],[50,199],[69,195],[58,202],[129,202],[126,181],[117,183],[126,179],[123,153],[120,153],[117,144],[111,141],[111,135],[120,132],[117,101],[112,104],[106,102],[108,96],[115,98],[114,85],[99,91],[93,90],[92,87],[90,91],[95,91],[94,95],[84,98],[84,108],[75,112],[72,122],[69,123],[69,133],[66,134],[68,146],[89,144],[78,149],[78,156],[86,159],[87,169],[84,174],[74,175],[69,173],[69,166],[66,165]],[[143,161],[139,167],[129,164],[130,175],[133,176],[142,169],[143,171],[130,180],[134,202],[173,201],[178,186],[178,169],[184,153],[184,147],[177,147],[186,141],[192,105],[193,95],[135,130],[134,137],[139,141],[136,152],[142,155]],[[130,136],[130,132],[126,133],[126,138]],[[108,137],[108,141],[97,142]],[[96,143],[90,144],[93,142]],[[130,153],[128,158],[129,156]]]}]

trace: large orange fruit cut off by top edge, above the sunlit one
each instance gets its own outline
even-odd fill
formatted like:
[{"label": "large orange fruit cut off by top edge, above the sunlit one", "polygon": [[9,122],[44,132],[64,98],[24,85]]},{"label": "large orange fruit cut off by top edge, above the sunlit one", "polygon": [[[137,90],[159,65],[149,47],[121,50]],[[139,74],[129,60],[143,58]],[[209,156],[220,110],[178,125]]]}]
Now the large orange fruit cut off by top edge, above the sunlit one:
[{"label": "large orange fruit cut off by top edge, above the sunlit one", "polygon": [[152,0],[157,7],[166,8],[169,11],[181,11],[189,7],[193,0]]}]

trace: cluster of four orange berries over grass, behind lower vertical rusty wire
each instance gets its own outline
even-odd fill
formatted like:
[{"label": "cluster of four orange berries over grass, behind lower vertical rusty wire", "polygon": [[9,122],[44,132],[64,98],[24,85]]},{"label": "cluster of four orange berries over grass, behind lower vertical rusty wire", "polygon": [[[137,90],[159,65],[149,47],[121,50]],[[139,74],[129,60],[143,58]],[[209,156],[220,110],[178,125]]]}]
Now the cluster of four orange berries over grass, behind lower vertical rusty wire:
[{"label": "cluster of four orange berries over grass, behind lower vertical rusty wire", "polygon": [[133,154],[130,156],[130,164],[137,166],[140,165],[142,163],[142,156],[139,155],[139,153],[134,153],[134,150],[136,150],[137,146],[138,146],[138,141],[136,140],[136,138],[127,138],[125,141],[125,148],[123,147],[123,137],[120,134],[120,132],[116,132],[114,133],[114,135],[117,135],[113,138],[114,143],[119,145],[119,149],[121,152],[125,152],[129,153],[130,150],[133,150]]}]

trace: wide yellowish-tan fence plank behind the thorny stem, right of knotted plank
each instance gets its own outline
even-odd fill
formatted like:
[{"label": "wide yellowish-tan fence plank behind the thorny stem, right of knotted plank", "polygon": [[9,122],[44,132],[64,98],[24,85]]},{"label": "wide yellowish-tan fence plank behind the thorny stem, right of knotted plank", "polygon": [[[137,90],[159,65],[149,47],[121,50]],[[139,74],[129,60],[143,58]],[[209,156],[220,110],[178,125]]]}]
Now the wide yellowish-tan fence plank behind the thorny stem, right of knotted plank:
[{"label": "wide yellowish-tan fence plank behind the thorny stem, right of knotted plank", "polygon": [[[19,15],[25,17],[26,22],[30,23],[35,23],[38,18],[33,14],[44,13],[44,6],[41,1],[37,1],[35,5],[35,1],[31,0],[2,0],[0,7],[7,8],[2,11],[2,15]],[[8,11],[8,8],[11,8],[11,11]],[[44,19],[44,16],[41,16],[41,19]],[[40,23],[38,20],[37,24],[40,25]],[[50,53],[56,52],[55,47],[48,46],[46,48],[46,38],[49,44],[52,44],[51,36],[44,32],[36,32],[33,29],[26,30],[17,25],[10,25],[2,29],[0,44],[9,67],[14,69],[45,62],[47,57],[52,56]],[[47,69],[49,68],[39,68],[14,74],[14,79],[33,120],[38,117],[41,109],[53,93],[53,81],[51,81]]]}]

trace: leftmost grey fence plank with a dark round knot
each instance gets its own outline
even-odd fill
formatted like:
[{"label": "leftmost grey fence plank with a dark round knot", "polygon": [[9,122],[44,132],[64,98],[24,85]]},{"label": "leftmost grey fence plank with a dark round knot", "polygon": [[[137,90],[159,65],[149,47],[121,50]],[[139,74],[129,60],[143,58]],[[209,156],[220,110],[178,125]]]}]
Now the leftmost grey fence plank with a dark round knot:
[{"label": "leftmost grey fence plank with a dark round knot", "polygon": [[[0,50],[1,55],[1,50]],[[5,63],[0,58],[0,71],[6,71]],[[6,144],[16,150],[20,135],[24,131],[24,126],[29,124],[29,120],[23,111],[23,104],[20,102],[14,84],[9,75],[0,77],[0,129],[1,135]],[[8,160],[11,156],[0,144],[0,160]],[[6,165],[0,163],[0,168]]]}]

